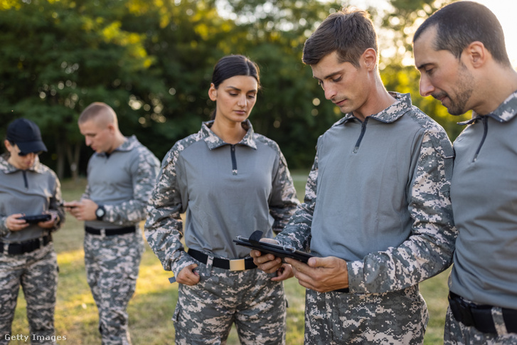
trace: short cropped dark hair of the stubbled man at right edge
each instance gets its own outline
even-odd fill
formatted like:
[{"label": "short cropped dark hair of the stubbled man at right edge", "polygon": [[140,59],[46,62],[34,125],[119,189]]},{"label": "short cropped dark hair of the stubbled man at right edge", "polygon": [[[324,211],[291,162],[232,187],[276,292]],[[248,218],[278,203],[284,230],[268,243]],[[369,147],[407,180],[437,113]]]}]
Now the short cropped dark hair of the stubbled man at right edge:
[{"label": "short cropped dark hair of the stubbled man at right edge", "polygon": [[479,41],[494,60],[511,66],[501,23],[486,6],[474,1],[457,1],[442,7],[417,29],[413,43],[432,26],[437,27],[433,43],[435,51],[450,51],[456,58],[460,58],[470,43]]}]

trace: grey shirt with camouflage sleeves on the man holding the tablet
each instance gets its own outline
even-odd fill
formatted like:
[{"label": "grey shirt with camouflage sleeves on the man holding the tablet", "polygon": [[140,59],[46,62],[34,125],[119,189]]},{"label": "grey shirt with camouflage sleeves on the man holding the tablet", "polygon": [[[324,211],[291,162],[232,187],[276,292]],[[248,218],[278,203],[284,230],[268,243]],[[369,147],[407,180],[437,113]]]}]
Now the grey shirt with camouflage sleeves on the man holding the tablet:
[{"label": "grey shirt with camouflage sleeves on the man holding the tablet", "polygon": [[364,122],[347,114],[318,139],[304,203],[277,236],[346,260],[351,292],[401,290],[451,264],[454,152],[409,94]]}]

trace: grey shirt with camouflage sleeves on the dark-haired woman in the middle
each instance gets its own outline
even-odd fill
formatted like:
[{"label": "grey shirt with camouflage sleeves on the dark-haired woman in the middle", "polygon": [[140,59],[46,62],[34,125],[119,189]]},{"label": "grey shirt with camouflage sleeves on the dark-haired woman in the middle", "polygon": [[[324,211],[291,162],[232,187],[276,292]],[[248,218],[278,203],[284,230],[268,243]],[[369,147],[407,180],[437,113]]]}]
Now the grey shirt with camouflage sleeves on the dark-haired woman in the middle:
[{"label": "grey shirt with camouflage sleeves on the dark-haired woman in the middle", "polygon": [[223,142],[203,123],[166,154],[149,201],[146,238],[165,270],[174,275],[194,263],[185,245],[220,258],[245,258],[250,250],[233,243],[238,235],[262,230],[271,238],[299,204],[287,163],[278,145],[247,134],[235,145]]}]

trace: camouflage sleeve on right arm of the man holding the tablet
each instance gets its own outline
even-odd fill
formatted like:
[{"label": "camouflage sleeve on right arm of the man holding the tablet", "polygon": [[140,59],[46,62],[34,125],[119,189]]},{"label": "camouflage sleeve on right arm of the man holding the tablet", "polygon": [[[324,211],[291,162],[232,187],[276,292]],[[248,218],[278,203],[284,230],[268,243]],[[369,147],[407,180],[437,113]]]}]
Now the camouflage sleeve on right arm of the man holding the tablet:
[{"label": "camouflage sleeve on right arm of the man holding the tablet", "polygon": [[401,290],[451,265],[457,235],[449,198],[453,158],[447,134],[424,135],[410,186],[412,234],[397,248],[347,262],[351,292]]}]

